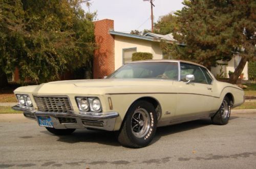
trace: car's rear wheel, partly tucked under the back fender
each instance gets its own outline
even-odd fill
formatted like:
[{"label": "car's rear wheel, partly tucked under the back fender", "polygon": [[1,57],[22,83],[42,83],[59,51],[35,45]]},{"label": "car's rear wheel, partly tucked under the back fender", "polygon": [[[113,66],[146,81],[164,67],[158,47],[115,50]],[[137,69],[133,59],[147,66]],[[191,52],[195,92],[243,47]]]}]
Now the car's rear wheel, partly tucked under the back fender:
[{"label": "car's rear wheel, partly tucked under the back fender", "polygon": [[213,124],[225,125],[228,123],[230,117],[230,101],[227,96],[224,97],[220,109],[211,118]]}]

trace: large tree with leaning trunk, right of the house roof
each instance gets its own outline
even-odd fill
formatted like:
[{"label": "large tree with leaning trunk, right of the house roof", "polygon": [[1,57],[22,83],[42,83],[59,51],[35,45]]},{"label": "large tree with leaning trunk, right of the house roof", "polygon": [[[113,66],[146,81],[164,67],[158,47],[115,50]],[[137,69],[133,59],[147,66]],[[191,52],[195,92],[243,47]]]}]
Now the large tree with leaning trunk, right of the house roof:
[{"label": "large tree with leaning trunk, right of the house roof", "polygon": [[210,68],[218,60],[229,61],[239,53],[241,62],[230,77],[236,83],[247,61],[255,59],[256,2],[254,0],[184,1],[177,11],[174,38],[186,47],[169,48],[176,59]]}]

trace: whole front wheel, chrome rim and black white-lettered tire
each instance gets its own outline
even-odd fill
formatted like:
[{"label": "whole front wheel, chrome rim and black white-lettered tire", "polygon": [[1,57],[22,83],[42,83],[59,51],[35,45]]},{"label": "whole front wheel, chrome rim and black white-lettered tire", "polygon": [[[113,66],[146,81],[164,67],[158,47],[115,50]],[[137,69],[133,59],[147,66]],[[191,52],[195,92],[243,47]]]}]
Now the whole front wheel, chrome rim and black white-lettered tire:
[{"label": "whole front wheel, chrome rim and black white-lettered tire", "polygon": [[145,147],[154,138],[156,127],[157,115],[154,106],[147,101],[137,101],[127,111],[118,141],[125,147]]}]

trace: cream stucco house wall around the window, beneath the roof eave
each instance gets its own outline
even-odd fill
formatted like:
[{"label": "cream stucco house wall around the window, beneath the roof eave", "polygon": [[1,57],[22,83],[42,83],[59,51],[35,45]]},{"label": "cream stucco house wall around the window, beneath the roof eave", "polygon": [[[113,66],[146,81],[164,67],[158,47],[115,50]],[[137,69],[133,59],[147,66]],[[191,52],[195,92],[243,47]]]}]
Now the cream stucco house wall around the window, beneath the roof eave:
[{"label": "cream stucco house wall around the window, beneath the roof eave", "polygon": [[115,35],[115,70],[123,65],[122,52],[124,48],[137,48],[137,52],[150,52],[153,59],[162,59],[162,50],[159,42],[135,39]]}]

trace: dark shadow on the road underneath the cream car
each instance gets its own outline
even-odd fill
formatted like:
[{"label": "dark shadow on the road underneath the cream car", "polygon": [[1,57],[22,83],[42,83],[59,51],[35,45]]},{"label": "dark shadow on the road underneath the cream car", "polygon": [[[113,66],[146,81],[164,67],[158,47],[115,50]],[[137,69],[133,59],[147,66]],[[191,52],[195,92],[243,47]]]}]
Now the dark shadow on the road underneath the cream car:
[{"label": "dark shadow on the road underneath the cream car", "polygon": [[[236,119],[238,117],[230,117],[229,120]],[[205,127],[212,125],[210,119],[201,119],[196,121],[184,122],[180,124],[158,127],[155,138],[152,144],[156,143],[162,136],[171,135],[178,132],[188,131],[200,127]],[[52,135],[49,131],[41,131],[41,133]],[[58,142],[64,143],[98,143],[102,145],[109,146],[121,146],[117,140],[117,132],[115,131],[98,131],[98,130],[87,130],[87,129],[77,129],[71,135],[58,136]]]}]

